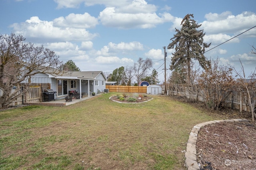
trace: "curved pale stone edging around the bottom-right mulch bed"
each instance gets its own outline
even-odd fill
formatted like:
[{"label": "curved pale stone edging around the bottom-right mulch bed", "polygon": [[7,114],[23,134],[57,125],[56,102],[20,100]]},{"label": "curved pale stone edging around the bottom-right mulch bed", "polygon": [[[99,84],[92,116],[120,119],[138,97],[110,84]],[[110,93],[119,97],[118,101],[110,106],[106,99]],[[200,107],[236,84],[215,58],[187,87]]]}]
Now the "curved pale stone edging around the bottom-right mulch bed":
[{"label": "curved pale stone edging around the bottom-right mulch bed", "polygon": [[186,146],[186,152],[185,152],[185,165],[188,168],[188,170],[200,170],[200,167],[198,166],[198,162],[196,160],[196,141],[197,141],[197,135],[201,127],[205,125],[210,125],[212,123],[220,123],[220,122],[248,122],[247,119],[226,119],[226,120],[214,120],[214,121],[206,121],[204,123],[199,123],[195,125],[188,137],[188,143]]}]

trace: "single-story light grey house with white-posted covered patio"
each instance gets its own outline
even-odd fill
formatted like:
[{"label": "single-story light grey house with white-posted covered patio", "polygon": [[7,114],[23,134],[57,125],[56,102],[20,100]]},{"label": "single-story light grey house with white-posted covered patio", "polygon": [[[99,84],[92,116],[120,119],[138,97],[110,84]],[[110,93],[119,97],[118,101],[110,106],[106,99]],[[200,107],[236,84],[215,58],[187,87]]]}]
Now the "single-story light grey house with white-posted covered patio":
[{"label": "single-story light grey house with white-posted covered patio", "polygon": [[56,92],[55,99],[62,99],[76,91],[83,96],[90,96],[92,92],[104,92],[106,77],[102,71],[68,71],[64,75],[38,73],[31,78],[32,83],[50,83]]}]

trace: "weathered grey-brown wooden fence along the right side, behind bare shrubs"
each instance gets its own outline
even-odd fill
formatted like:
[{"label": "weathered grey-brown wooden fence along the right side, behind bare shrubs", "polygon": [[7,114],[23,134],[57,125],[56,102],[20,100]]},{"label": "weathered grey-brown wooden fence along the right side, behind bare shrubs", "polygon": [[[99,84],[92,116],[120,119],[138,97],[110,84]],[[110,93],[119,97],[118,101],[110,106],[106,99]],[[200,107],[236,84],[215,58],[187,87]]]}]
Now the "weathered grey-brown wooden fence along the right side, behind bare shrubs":
[{"label": "weathered grey-brown wooden fence along the right side, behind bare shrubs", "polygon": [[[183,96],[188,99],[205,102],[204,96],[200,96],[198,94],[198,91],[200,91],[199,88],[195,89],[195,88],[188,88],[181,85],[170,85],[168,94],[175,95],[175,96]],[[231,94],[228,95],[228,97],[225,100],[225,103],[222,105],[225,107],[233,108],[233,109],[240,109],[240,111],[250,111],[251,110],[250,106],[247,103],[248,103],[248,97],[246,92],[240,94],[236,91],[233,91]]]}]

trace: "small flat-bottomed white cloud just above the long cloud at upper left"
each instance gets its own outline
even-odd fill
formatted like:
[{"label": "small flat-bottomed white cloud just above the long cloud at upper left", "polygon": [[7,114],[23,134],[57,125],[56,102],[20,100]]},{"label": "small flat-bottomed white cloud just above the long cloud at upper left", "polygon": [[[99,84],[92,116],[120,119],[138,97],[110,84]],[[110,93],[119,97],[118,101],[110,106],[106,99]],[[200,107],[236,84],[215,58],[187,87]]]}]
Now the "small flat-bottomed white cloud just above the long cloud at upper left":
[{"label": "small flat-bottomed white cloud just above the long cloud at upper left", "polygon": [[90,16],[87,12],[84,14],[69,14],[53,20],[54,27],[74,27],[74,28],[93,28],[98,24],[98,19]]}]

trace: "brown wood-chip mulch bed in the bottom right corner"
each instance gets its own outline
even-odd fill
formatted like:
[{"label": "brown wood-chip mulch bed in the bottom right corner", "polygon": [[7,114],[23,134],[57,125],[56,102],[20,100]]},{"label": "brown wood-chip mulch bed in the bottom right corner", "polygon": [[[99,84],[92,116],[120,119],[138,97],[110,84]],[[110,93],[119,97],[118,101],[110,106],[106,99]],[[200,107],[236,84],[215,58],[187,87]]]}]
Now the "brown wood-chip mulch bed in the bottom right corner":
[{"label": "brown wood-chip mulch bed in the bottom right corner", "polygon": [[201,170],[255,170],[255,123],[213,123],[202,127],[196,143]]}]

